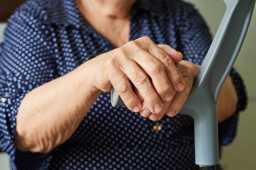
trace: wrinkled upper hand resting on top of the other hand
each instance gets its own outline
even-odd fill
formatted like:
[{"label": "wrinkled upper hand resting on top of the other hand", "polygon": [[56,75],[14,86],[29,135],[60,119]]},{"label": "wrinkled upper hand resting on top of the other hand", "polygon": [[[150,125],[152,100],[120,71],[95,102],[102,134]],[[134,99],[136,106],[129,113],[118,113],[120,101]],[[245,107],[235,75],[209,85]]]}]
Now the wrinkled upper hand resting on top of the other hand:
[{"label": "wrinkled upper hand resting on top of the other hand", "polygon": [[110,92],[113,86],[134,112],[142,113],[141,109],[147,108],[150,113],[163,113],[165,102],[172,101],[176,92],[184,90],[182,65],[175,65],[182,60],[182,54],[168,45],[156,45],[148,37],[130,41],[97,58],[94,63],[99,72],[95,86],[105,92]]}]

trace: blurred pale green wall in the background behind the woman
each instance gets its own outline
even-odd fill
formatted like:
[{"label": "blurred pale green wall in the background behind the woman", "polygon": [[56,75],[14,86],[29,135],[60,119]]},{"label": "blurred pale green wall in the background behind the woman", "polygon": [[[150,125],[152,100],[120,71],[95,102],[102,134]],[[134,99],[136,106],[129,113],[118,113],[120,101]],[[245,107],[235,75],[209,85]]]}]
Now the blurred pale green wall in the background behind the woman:
[{"label": "blurred pale green wall in the background behind the woman", "polygon": [[[13,0],[10,0],[11,2]],[[210,31],[215,35],[225,4],[222,0],[186,0],[195,5],[206,20]],[[4,1],[1,0],[0,3]],[[8,1],[5,1],[8,2]],[[13,1],[11,3],[20,3]],[[4,9],[4,5],[0,7]],[[254,7],[256,8],[256,7]],[[0,15],[4,16],[0,10]],[[1,20],[1,18],[0,18]],[[0,22],[0,42],[3,39],[3,29],[6,23]],[[224,170],[256,170],[256,9],[243,43],[242,49],[234,64],[236,70],[243,77],[248,92],[248,106],[240,114],[238,132],[234,142],[225,146],[220,163]],[[0,170],[9,170],[9,156],[0,153]]]}]

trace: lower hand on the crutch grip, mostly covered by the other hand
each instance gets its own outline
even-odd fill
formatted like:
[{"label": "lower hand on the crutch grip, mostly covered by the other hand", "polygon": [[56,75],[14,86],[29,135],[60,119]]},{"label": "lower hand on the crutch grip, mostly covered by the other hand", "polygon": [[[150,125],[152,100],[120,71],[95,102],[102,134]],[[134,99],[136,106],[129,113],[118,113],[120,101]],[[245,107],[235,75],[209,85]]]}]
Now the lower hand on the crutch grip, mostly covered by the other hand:
[{"label": "lower hand on the crutch grip, mostly covered by the other hand", "polygon": [[[140,114],[143,117],[149,117],[151,120],[157,121],[161,119],[165,113],[170,117],[177,115],[177,113],[179,113],[179,111],[183,107],[187,97],[189,96],[195,75],[198,73],[200,66],[184,60],[175,65],[184,78],[186,84],[184,90],[177,91],[171,101],[163,101],[164,109],[162,110],[161,113],[151,113],[150,110],[148,110],[148,108],[146,107],[146,105],[144,105],[145,107],[142,108],[142,111],[140,112]],[[138,91],[136,91],[136,94],[139,96]],[[143,99],[141,97],[140,99],[141,102],[143,102]]]}]

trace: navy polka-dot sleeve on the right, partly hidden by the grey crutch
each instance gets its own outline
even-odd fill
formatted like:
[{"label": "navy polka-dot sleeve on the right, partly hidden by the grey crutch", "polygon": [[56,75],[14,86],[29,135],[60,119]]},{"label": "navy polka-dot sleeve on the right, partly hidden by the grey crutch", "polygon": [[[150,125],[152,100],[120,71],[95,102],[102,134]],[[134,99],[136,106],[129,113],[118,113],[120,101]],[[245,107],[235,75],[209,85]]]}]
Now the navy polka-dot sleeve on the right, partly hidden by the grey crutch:
[{"label": "navy polka-dot sleeve on the right, partly hidden by the grey crutch", "polygon": [[[209,50],[212,38],[204,19],[200,16],[198,11],[192,6],[189,6],[191,5],[184,5],[186,10],[183,11],[183,18],[177,22],[179,24],[177,26],[177,31],[179,33],[179,37],[177,38],[179,46],[177,50],[183,53],[184,60],[201,65]],[[238,113],[241,110],[244,110],[247,105],[247,95],[242,78],[234,68],[232,68],[229,75],[236,88],[238,104],[236,113],[229,119],[218,124],[220,145],[227,145],[234,139],[236,135]]]}]

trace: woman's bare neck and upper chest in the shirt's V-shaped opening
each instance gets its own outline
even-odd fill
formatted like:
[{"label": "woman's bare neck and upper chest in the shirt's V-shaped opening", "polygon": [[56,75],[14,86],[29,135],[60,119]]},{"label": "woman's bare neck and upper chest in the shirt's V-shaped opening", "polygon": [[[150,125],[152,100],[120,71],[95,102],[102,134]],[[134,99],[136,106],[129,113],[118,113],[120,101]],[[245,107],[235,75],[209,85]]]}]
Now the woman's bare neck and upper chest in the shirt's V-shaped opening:
[{"label": "woman's bare neck and upper chest in the shirt's V-shaped opening", "polygon": [[129,41],[130,14],[137,0],[77,0],[84,18],[114,46]]}]

